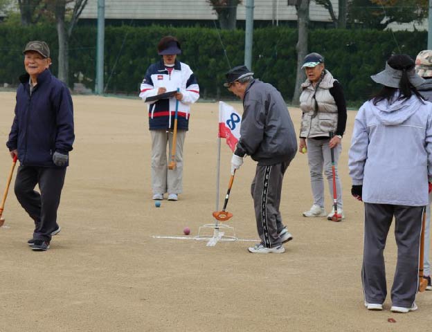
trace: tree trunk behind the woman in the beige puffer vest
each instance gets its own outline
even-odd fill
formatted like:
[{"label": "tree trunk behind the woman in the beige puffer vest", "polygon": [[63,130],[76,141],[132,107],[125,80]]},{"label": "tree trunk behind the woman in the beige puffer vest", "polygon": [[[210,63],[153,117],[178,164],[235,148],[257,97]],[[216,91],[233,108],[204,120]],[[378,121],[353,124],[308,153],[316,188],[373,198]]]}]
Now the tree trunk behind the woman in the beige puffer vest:
[{"label": "tree trunk behind the woman in the beige puffer vest", "polygon": [[292,104],[300,104],[300,85],[305,81],[305,71],[301,68],[303,59],[307,55],[307,26],[309,25],[309,2],[310,0],[298,0],[299,6],[297,8],[298,17],[298,42],[296,45],[297,50],[297,75],[296,75],[296,88],[294,90],[294,97]]}]

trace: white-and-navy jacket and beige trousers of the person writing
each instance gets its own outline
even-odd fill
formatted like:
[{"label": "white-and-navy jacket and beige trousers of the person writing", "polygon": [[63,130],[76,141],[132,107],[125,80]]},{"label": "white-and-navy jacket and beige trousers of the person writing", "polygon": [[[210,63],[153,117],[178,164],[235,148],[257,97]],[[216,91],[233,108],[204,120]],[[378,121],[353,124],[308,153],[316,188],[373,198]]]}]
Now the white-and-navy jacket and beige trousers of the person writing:
[{"label": "white-and-navy jacket and beige trousers of the person writing", "polygon": [[168,172],[167,143],[172,147],[172,131],[176,99],[174,97],[148,103],[149,129],[152,133],[152,190],[154,194],[179,194],[182,191],[183,143],[188,131],[190,104],[199,98],[199,86],[194,73],[187,64],[175,61],[174,66],[165,66],[163,60],[147,68],[141,83],[140,98],[145,100],[158,94],[159,88],[167,92],[177,89],[183,94],[177,112],[177,166]]}]

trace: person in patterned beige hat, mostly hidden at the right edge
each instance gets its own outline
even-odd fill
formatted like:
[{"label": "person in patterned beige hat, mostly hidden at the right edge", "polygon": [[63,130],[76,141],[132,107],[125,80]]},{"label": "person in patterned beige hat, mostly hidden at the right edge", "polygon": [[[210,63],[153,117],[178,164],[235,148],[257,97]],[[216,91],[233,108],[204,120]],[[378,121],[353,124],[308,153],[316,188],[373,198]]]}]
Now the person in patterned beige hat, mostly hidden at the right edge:
[{"label": "person in patterned beige hat, mostly hidden at the right edge", "polygon": [[[415,58],[415,73],[424,79],[424,83],[417,90],[425,100],[432,102],[432,50],[422,50]],[[426,291],[432,291],[431,264],[429,262],[429,248],[431,247],[431,202],[432,193],[429,193],[429,204],[426,206],[426,227],[424,228],[424,256],[423,273],[428,286]]]}]

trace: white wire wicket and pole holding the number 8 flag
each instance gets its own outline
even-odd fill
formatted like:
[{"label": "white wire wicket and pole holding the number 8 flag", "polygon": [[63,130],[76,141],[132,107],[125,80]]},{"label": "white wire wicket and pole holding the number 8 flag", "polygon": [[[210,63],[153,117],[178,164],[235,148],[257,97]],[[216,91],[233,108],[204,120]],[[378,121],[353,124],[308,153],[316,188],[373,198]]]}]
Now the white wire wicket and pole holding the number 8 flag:
[{"label": "white wire wicket and pole holding the number 8 flag", "polygon": [[[219,111],[220,112],[220,111]],[[219,177],[220,177],[220,149],[221,149],[221,136],[220,131],[217,138],[217,165],[216,165],[216,210],[219,211]],[[213,232],[212,232],[213,231]],[[215,223],[207,223],[202,225],[195,239],[199,241],[208,241],[207,246],[216,246],[217,242],[236,241],[235,230],[233,227],[219,222],[216,219]]]}]

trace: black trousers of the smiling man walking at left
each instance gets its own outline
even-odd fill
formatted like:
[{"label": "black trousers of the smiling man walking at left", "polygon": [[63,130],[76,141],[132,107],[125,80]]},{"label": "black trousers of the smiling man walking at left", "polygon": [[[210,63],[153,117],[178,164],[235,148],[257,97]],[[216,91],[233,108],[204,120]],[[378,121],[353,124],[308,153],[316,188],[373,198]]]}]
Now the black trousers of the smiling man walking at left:
[{"label": "black trousers of the smiling man walking at left", "polygon": [[[35,221],[33,239],[51,241],[58,228],[57,209],[66,176],[66,167],[19,166],[15,179],[15,195],[31,219]],[[35,191],[39,185],[39,192]]]}]

